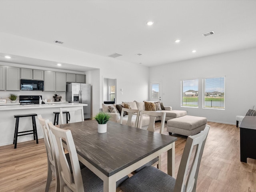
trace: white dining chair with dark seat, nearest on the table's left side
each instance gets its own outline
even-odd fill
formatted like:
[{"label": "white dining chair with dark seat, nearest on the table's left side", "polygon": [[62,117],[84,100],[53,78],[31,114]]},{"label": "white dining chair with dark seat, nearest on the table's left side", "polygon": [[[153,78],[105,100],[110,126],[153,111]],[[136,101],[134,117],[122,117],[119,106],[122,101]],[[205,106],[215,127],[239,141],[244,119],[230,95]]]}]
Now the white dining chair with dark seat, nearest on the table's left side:
[{"label": "white dining chair with dark seat, nearest on the table's left side", "polygon": [[[60,176],[60,191],[61,192],[103,192],[103,181],[96,176],[87,167],[80,170],[76,146],[70,130],[60,129],[48,123],[53,140],[56,141],[56,151],[59,153],[57,160],[58,171]],[[62,140],[66,142],[66,150],[70,154],[70,164],[73,172],[70,170],[68,161],[65,156]],[[120,186],[128,176],[121,178],[116,182],[116,188]]]}]

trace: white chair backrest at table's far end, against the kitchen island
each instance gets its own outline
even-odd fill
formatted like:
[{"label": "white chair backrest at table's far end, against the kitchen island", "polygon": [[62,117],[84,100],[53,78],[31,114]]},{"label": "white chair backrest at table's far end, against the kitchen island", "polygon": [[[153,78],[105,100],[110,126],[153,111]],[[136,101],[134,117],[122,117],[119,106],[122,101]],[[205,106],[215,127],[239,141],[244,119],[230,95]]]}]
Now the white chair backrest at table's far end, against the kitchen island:
[{"label": "white chair backrest at table's far end, against the kitchen island", "polygon": [[60,108],[60,122],[64,124],[63,111],[69,112],[69,122],[81,122],[84,121],[84,108],[83,106],[79,107],[70,107],[70,108]]}]

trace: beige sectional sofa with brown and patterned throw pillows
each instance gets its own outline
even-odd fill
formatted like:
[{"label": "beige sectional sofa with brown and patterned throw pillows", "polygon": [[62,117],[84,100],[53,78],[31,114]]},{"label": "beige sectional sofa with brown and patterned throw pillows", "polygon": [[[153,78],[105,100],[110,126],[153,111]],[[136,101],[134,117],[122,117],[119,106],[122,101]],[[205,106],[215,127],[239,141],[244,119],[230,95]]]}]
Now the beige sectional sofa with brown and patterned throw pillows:
[{"label": "beige sectional sofa with brown and patterned throw pillows", "polygon": [[[138,109],[138,110],[152,110],[152,111],[166,112],[165,121],[173,119],[173,118],[182,117],[187,114],[186,111],[172,110],[172,107],[170,107],[170,106],[164,106],[160,102],[153,102],[153,101],[122,102],[122,104],[102,104],[102,108],[100,108],[100,111],[108,113],[111,116],[110,121],[120,123],[120,114],[121,114],[122,107]],[[128,115],[124,114],[123,124],[126,123],[127,119],[128,119]],[[134,126],[133,124],[135,124],[136,115],[134,115],[134,117],[132,117],[132,119],[133,119],[132,126]],[[159,117],[156,118],[156,121],[157,120],[160,120],[160,118]],[[149,125],[149,117],[143,118],[142,129],[147,129],[148,125]]]}]

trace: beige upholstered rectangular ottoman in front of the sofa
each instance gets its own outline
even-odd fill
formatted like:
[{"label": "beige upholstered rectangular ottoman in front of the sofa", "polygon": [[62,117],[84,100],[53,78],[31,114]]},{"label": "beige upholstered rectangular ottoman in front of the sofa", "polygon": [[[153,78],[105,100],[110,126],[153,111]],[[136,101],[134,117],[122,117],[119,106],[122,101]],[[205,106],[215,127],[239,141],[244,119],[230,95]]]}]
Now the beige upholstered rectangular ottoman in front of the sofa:
[{"label": "beige upholstered rectangular ottoman in front of the sofa", "polygon": [[195,135],[204,130],[206,122],[207,119],[205,117],[185,115],[168,120],[167,131],[170,135],[172,133],[185,136]]}]

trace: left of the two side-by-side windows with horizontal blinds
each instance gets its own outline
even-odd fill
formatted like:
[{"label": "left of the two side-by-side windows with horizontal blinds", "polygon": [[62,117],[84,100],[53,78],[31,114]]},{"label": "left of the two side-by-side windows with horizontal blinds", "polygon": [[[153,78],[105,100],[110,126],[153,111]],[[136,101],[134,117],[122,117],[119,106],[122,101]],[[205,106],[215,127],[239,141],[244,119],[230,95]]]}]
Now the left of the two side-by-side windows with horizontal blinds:
[{"label": "left of the two side-by-side windows with horizontal blinds", "polygon": [[198,79],[182,81],[181,106],[198,107]]}]

